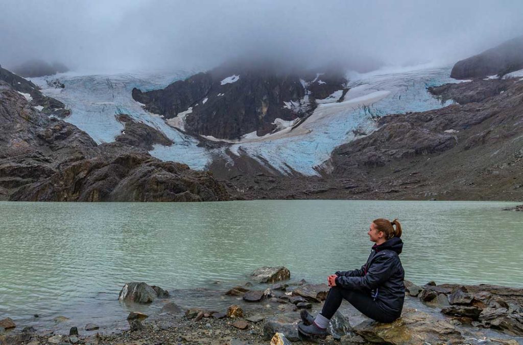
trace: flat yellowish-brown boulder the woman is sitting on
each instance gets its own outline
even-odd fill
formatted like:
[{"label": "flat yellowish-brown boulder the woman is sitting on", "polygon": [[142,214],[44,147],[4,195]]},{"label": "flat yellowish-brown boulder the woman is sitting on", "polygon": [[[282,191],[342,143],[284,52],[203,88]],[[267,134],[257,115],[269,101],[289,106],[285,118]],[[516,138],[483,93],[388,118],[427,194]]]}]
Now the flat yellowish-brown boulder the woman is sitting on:
[{"label": "flat yellowish-brown boulder the woman is sitting on", "polygon": [[437,319],[412,308],[390,324],[364,321],[354,332],[366,342],[391,345],[419,345],[424,343],[464,343],[465,339],[447,320]]}]

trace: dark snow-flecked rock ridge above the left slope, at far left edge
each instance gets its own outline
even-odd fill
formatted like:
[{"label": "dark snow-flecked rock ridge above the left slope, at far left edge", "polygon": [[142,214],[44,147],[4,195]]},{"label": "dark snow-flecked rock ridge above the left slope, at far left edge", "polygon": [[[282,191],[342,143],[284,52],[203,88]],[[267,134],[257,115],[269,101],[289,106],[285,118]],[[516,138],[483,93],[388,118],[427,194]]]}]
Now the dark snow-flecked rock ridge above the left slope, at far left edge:
[{"label": "dark snow-flecked rock ridge above the left slope, at far left edge", "polygon": [[28,94],[31,97],[31,101],[29,101],[30,105],[42,106],[43,108],[41,111],[46,115],[52,115],[60,118],[71,115],[71,110],[66,109],[62,102],[58,101],[57,99],[44,96],[40,92],[38,86],[14,73],[9,72],[6,69],[3,69],[2,66],[0,66],[0,81],[4,81],[15,91]]}]

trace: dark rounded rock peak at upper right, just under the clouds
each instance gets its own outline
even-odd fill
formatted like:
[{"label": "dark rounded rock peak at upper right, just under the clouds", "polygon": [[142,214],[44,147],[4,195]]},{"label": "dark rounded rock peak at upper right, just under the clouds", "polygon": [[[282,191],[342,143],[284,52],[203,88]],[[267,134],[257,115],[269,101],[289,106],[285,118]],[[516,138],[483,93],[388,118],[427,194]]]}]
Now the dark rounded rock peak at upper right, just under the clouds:
[{"label": "dark rounded rock peak at upper right, just under the clouds", "polygon": [[450,76],[455,79],[484,78],[523,69],[523,36],[506,41],[481,54],[458,61]]}]

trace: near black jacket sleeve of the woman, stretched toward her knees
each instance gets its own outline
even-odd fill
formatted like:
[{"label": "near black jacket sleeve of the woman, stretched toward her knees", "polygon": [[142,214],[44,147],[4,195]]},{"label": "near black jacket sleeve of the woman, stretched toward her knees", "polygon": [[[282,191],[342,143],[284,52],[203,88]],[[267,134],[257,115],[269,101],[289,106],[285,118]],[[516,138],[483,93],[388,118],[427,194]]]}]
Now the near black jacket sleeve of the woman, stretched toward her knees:
[{"label": "near black jacket sleeve of the woman, stretched toward her knees", "polygon": [[363,276],[340,275],[336,278],[336,285],[350,290],[373,290],[386,282],[394,272],[394,258],[382,256],[370,265],[367,274]]}]

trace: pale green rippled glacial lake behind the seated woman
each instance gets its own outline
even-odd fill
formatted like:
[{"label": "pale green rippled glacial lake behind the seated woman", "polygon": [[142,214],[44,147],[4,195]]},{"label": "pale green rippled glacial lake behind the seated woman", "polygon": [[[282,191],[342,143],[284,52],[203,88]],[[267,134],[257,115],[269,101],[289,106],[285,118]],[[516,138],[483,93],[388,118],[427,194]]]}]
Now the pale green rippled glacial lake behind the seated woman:
[{"label": "pale green rippled glacial lake behind the seated woman", "polygon": [[[264,265],[284,265],[291,279],[321,283],[365,263],[367,230],[379,217],[403,225],[406,279],[521,288],[523,213],[503,210],[515,205],[0,202],[0,319],[42,327],[59,315],[78,326],[124,320],[130,308],[117,299],[126,282],[169,291],[220,282],[224,289]],[[176,302],[191,306],[181,291]]]}]

